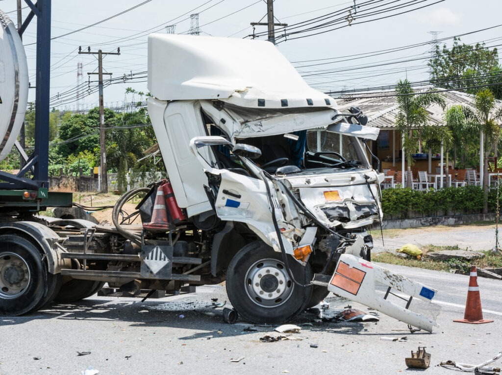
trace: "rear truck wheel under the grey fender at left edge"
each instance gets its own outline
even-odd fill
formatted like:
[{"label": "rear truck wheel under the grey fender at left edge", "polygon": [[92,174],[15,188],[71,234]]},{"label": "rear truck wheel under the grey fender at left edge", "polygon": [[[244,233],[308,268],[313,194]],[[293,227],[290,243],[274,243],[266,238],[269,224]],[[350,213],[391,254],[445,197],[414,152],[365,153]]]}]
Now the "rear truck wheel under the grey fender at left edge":
[{"label": "rear truck wheel under the grey fender at left edge", "polygon": [[20,236],[0,236],[0,315],[42,307],[52,296],[54,281],[57,277],[47,272],[35,245]]}]

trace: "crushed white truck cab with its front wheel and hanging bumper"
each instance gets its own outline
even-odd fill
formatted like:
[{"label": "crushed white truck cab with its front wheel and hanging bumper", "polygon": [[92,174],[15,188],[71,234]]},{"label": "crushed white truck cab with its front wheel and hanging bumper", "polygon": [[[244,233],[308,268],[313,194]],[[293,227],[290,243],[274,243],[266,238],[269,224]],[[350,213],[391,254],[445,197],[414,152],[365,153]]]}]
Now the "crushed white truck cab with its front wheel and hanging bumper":
[{"label": "crushed white truck cab with its front wheel and hanging bumper", "polygon": [[226,279],[242,317],[281,323],[332,291],[432,329],[387,297],[435,291],[367,262],[383,176],[365,144],[379,130],[359,108],[338,111],[268,42],[151,35],[148,68],[152,124],[195,227],[180,231],[201,233],[208,276]]}]

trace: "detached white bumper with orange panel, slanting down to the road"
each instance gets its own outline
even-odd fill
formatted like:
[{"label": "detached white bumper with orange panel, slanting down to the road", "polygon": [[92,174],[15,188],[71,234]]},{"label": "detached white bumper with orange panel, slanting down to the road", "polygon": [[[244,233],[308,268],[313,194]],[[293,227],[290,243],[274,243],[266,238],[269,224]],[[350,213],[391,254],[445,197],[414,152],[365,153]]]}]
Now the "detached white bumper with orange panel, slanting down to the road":
[{"label": "detached white bumper with orange panel, slanting down to the road", "polygon": [[[330,292],[341,297],[428,332],[432,332],[433,326],[438,326],[434,321],[435,316],[428,317],[412,311],[412,307],[417,306],[417,310],[423,313],[439,313],[440,307],[431,302],[437,290],[353,255],[340,256],[327,287]],[[393,290],[401,293],[397,294]],[[391,296],[401,300],[405,307],[390,301]],[[419,303],[412,304],[414,298],[418,299],[414,302]]]}]

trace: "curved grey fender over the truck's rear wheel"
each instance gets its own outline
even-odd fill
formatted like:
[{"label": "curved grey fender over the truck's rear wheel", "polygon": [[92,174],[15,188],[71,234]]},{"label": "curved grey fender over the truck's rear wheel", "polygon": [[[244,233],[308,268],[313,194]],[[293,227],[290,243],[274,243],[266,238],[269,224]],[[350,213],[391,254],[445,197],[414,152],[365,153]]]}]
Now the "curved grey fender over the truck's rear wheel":
[{"label": "curved grey fender over the truck's rear wheel", "polygon": [[47,226],[37,222],[13,222],[0,224],[0,234],[11,233],[26,238],[34,243],[47,259],[47,270],[60,273],[64,259],[60,253],[63,248],[59,245],[59,235]]}]

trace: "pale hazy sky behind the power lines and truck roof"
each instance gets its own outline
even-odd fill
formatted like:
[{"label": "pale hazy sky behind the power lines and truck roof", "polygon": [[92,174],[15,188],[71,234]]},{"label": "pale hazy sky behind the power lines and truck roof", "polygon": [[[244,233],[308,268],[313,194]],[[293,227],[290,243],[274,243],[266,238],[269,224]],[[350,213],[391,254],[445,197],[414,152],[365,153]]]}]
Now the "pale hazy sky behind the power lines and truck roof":
[{"label": "pale hazy sky behind the power lines and truck roof", "polygon": [[[0,9],[15,24],[16,4],[16,0],[0,0]],[[385,11],[392,6],[402,8]],[[24,0],[22,7],[24,20],[29,13]],[[499,48],[500,11],[499,0],[275,0],[274,3],[276,22],[288,24],[286,38],[284,28],[277,27],[277,48],[312,87],[323,92],[376,89],[405,78],[411,82],[427,80],[427,61],[434,39],[431,32],[436,32],[440,45],[444,43],[447,47],[451,47],[452,37],[463,35],[462,43],[485,42],[486,47]],[[398,13],[401,14],[395,15]],[[258,39],[267,39],[266,26],[255,29],[250,26],[252,22],[267,21],[266,0],[52,0],[51,107],[76,110],[98,105],[97,75],[87,74],[97,72],[97,59],[95,55],[79,55],[79,46],[83,51],[89,46],[92,52],[98,49],[116,52],[120,48],[120,55],[103,59],[104,71],[112,73],[113,79],[106,81],[110,76],[105,76],[105,106],[124,108],[123,102],[145,99],[138,93],[148,92],[148,34],[165,33],[166,26],[174,28],[176,34],[187,34],[192,14],[198,14],[200,35],[251,38],[255,33]],[[335,25],[306,30],[333,20],[338,20]],[[295,31],[300,33],[290,34]],[[23,35],[32,86],[36,85],[35,37],[36,18]],[[417,46],[403,48],[414,45]],[[241,58],[245,57],[236,56],[236,62]],[[78,76],[79,63],[81,76]],[[128,87],[136,93],[126,93]],[[32,89],[29,101],[34,98]]]}]

